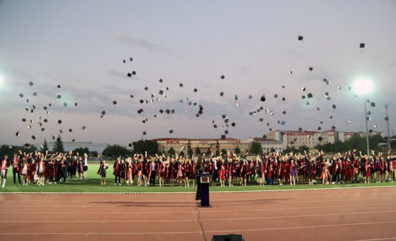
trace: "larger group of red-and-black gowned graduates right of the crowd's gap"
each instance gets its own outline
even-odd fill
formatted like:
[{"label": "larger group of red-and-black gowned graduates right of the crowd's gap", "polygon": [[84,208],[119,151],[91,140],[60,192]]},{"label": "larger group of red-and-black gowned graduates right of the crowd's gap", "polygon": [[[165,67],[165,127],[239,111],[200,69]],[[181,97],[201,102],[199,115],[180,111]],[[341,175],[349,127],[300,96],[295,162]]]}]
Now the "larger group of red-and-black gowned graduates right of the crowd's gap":
[{"label": "larger group of red-and-black gowned graduates right of the crowd's gap", "polygon": [[[323,184],[351,183],[361,180],[369,183],[393,182],[395,180],[396,157],[383,153],[377,155],[372,151],[371,155],[362,155],[356,150],[348,151],[344,155],[337,153],[331,158],[324,157],[323,152],[287,154],[265,153],[257,155],[256,158],[247,159],[230,152],[225,157],[200,156],[202,160],[202,172],[213,175],[212,185],[233,186],[234,183],[246,186],[247,182],[257,182],[259,185],[269,184],[291,184],[296,183],[313,185],[320,180]],[[100,156],[101,184],[104,185],[108,164]],[[122,159],[119,157],[113,164],[114,185],[126,183],[132,185],[133,181],[138,186],[155,186],[156,179],[159,186],[169,183],[170,186],[195,186],[196,185],[196,158],[192,156],[166,157],[163,155],[148,156],[147,152],[135,154],[134,157]],[[257,180],[254,180],[257,177]]]}]

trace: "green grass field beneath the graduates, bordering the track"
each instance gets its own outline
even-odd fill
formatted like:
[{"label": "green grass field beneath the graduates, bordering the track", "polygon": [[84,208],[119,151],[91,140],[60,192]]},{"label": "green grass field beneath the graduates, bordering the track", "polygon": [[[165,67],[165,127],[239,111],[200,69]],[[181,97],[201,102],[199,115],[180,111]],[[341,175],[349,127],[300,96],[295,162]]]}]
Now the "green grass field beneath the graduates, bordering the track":
[{"label": "green grass field beneath the graduates, bordering the track", "polygon": [[[126,185],[123,183],[122,185],[114,185],[114,176],[112,175],[112,169],[109,168],[107,170],[107,181],[106,185],[100,185],[100,178],[97,174],[99,169],[99,164],[89,164],[87,179],[83,179],[82,181],[69,181],[67,180],[65,183],[60,182],[57,184],[45,184],[44,186],[38,186],[36,184],[29,184],[28,186],[23,186],[22,184],[17,183],[12,184],[13,176],[12,170],[10,169],[7,173],[7,181],[5,183],[4,188],[0,188],[0,192],[82,192],[82,193],[90,193],[90,192],[119,192],[119,193],[128,193],[128,192],[194,192],[195,187],[171,187],[169,184],[165,184],[164,187],[156,186],[144,187],[137,186],[136,181],[134,184]],[[78,174],[77,174],[78,175]],[[17,178],[18,179],[18,178]],[[78,177],[77,177],[78,179]],[[396,186],[396,182],[391,183],[352,183],[352,184],[334,184],[334,185],[322,185],[321,183],[316,183],[314,185],[307,184],[297,184],[297,185],[264,185],[259,186],[255,181],[250,181],[247,183],[247,186],[240,186],[237,183],[234,183],[234,186],[229,187],[221,187],[221,186],[210,186],[211,191],[258,191],[258,190],[294,190],[294,189],[309,189],[309,188],[334,188],[334,187],[365,187],[365,186]]]}]

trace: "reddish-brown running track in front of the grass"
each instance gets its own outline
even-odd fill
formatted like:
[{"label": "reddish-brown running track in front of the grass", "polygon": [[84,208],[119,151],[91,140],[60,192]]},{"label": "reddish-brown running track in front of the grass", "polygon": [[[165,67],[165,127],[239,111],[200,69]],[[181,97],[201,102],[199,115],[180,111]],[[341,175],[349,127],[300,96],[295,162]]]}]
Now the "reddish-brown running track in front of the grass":
[{"label": "reddish-brown running track in front of the grass", "polygon": [[0,240],[396,240],[395,187],[210,198],[211,208],[197,208],[193,193],[0,194]]}]

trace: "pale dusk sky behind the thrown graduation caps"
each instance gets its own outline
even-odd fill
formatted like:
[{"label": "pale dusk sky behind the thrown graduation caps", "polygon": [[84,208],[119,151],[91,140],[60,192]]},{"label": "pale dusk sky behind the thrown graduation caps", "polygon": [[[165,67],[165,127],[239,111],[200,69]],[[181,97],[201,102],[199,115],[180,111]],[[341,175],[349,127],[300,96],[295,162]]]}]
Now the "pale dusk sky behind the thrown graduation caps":
[{"label": "pale dusk sky behind the thrown graduation caps", "polygon": [[60,129],[63,141],[121,145],[225,130],[238,139],[269,128],[365,131],[357,79],[373,84],[369,129],[387,135],[390,104],[392,135],[395,23],[395,0],[0,0],[0,144],[52,141]]}]

